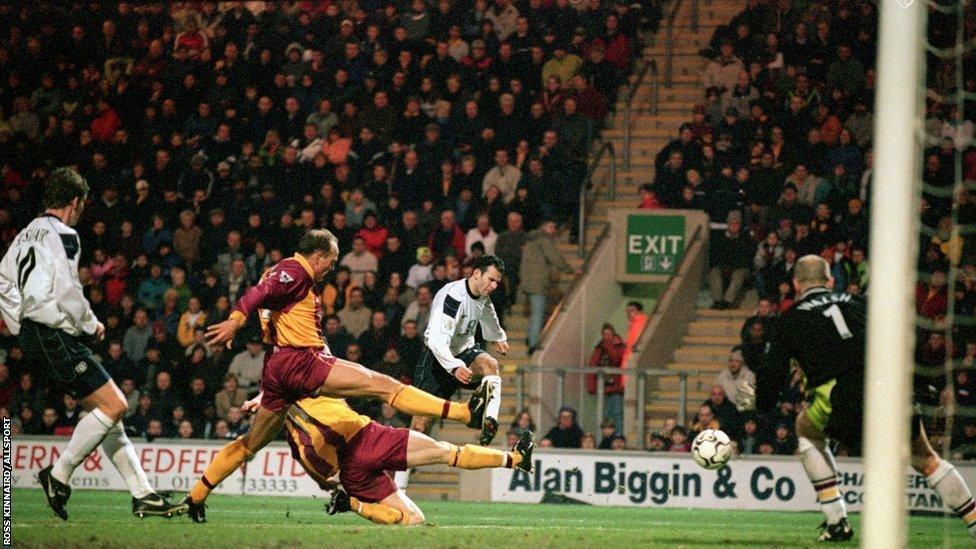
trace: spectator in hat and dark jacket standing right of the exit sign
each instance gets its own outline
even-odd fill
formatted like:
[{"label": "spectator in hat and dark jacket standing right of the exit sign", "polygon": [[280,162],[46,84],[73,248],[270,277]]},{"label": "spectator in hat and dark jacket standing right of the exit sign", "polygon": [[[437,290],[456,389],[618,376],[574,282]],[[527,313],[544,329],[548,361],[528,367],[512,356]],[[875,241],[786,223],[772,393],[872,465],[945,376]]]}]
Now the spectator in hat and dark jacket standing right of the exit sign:
[{"label": "spectator in hat and dark jacket standing right of the exit sign", "polygon": [[726,227],[709,243],[708,286],[715,309],[728,309],[739,299],[754,250],[752,240],[742,231],[741,212],[729,212]]}]

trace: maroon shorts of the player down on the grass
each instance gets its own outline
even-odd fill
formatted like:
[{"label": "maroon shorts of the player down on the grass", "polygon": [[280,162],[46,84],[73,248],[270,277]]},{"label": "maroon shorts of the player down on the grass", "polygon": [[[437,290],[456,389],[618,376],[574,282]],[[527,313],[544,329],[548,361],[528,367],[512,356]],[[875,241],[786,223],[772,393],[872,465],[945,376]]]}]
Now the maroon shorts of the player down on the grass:
[{"label": "maroon shorts of the player down on the grass", "polygon": [[409,429],[369,422],[346,444],[340,458],[339,480],[350,496],[367,503],[382,501],[397,491],[386,471],[407,469]]}]

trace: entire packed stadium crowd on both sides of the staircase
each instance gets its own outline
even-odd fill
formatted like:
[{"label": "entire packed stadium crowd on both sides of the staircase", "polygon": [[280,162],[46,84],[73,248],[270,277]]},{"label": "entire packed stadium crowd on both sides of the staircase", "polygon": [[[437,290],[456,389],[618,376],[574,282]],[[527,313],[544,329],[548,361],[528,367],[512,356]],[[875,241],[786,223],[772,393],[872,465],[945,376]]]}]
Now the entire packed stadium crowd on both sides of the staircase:
[{"label": "entire packed stadium crowd on both sides of the staircase", "polygon": [[[257,390],[264,353],[258,326],[231,349],[204,345],[204,327],[313,227],[341,243],[322,293],[332,351],[409,380],[433,293],[472,257],[509,265],[494,296],[504,315],[526,282],[522,246],[551,237],[538,230],[548,220],[575,229],[590,141],[656,8],[0,5],[0,251],[38,211],[51,169],[76,166],[92,186],[79,230],[82,281],[107,327],[96,350],[136,436],[246,430],[240,405]],[[935,45],[954,43],[951,15],[931,14],[929,26]],[[740,389],[769,323],[792,304],[798,257],[820,254],[838,289],[868,291],[876,27],[871,2],[749,0],[718,29],[702,52],[703,101],[657,155],[640,206],[705,210],[714,307],[753,285],[756,315],[691,425],[671,419],[628,444],[610,420],[597,441],[564,409],[542,445],[688,451],[696,431],[721,427],[742,453],[795,451],[801,376],[767,416],[749,412]],[[976,200],[953,189],[957,154],[964,179],[976,180],[976,102],[959,112],[954,67],[929,66],[917,390],[933,424],[954,410],[953,446],[970,459],[976,333],[946,318],[950,303],[957,319],[976,314],[976,239],[953,231],[976,223]],[[29,373],[15,338],[2,343],[0,412],[24,433],[70,432],[77,402]],[[369,411],[403,424],[388,406]],[[509,436],[525,428],[534,421],[523,413]]]}]

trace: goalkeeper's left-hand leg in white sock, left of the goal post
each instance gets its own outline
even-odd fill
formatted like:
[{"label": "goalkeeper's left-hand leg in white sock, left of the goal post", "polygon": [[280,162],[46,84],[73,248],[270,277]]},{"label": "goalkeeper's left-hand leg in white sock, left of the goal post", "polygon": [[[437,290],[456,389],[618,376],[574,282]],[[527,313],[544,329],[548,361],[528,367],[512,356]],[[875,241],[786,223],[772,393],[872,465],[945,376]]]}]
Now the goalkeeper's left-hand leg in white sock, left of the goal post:
[{"label": "goalkeeper's left-hand leg in white sock, left of the goal post", "polygon": [[823,532],[820,541],[847,541],[854,537],[854,530],[847,521],[847,508],[838,488],[837,464],[830,448],[824,442],[824,435],[807,413],[796,418],[796,433],[799,437],[800,459],[803,469],[817,492],[817,501],[824,514]]}]

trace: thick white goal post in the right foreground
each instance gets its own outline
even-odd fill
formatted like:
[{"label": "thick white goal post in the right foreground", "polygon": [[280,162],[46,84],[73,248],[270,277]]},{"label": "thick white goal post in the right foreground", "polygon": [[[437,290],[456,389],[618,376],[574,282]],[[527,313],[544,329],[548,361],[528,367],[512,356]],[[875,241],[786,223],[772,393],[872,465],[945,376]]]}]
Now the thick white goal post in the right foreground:
[{"label": "thick white goal post in the right foreground", "polygon": [[862,547],[905,547],[926,0],[879,2]]}]

